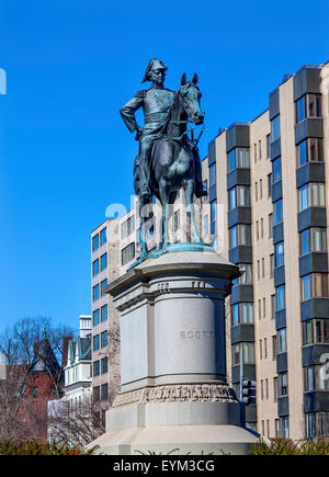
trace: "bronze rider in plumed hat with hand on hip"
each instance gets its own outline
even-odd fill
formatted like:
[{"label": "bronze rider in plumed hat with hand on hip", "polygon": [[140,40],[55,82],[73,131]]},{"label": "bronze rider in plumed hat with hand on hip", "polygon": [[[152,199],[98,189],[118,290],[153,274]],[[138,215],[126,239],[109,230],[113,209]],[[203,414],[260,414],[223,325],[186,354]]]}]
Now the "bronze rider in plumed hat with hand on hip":
[{"label": "bronze rider in plumed hat with hand on hip", "polygon": [[[128,101],[122,109],[121,115],[131,133],[137,132],[136,140],[139,140],[139,183],[141,197],[150,196],[150,152],[154,141],[159,137],[166,121],[169,110],[173,103],[174,91],[163,87],[167,67],[162,61],[152,58],[145,71],[143,83],[151,81],[151,87],[148,90],[138,91],[135,96]],[[138,126],[135,117],[135,112],[143,107],[145,125],[141,128]],[[207,195],[203,189],[201,160],[197,149],[194,149],[195,162],[195,195],[201,197]]]}]

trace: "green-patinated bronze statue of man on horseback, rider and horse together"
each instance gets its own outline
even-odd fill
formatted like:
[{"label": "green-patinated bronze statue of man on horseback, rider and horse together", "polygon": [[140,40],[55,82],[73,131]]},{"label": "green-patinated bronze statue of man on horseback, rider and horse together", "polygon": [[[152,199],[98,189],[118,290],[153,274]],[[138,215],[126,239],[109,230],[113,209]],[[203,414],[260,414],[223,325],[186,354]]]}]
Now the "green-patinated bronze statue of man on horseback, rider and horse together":
[{"label": "green-patinated bronze statue of man on horseback, rider and horse together", "polygon": [[[196,73],[191,81],[188,81],[184,73],[178,91],[166,89],[163,82],[167,69],[163,63],[151,59],[143,79],[143,82],[151,81],[151,87],[138,91],[121,109],[126,126],[131,133],[136,132],[136,140],[139,140],[139,154],[134,164],[134,186],[139,196],[140,260],[148,253],[146,226],[150,215],[147,211],[154,195],[162,206],[160,250],[166,251],[169,245],[170,204],[174,202],[180,189],[184,191],[186,214],[191,219],[191,241],[202,243],[193,203],[194,195],[207,195],[202,183],[198,139],[195,140],[193,136],[195,126],[204,122],[200,104],[201,91],[196,86]],[[144,127],[137,124],[135,117],[139,107],[144,111]],[[195,126],[189,129],[189,123],[194,123]]]}]

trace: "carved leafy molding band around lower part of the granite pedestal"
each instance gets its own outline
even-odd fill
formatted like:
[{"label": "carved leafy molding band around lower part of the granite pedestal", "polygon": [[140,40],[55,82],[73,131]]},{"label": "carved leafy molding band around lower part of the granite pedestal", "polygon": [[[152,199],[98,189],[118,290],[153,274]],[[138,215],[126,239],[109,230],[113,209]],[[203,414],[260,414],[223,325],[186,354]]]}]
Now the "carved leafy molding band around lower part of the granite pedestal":
[{"label": "carved leafy molding band around lower part of the granite pedestal", "polygon": [[167,386],[147,386],[118,394],[113,408],[147,402],[237,402],[232,388],[225,383],[180,383]]}]

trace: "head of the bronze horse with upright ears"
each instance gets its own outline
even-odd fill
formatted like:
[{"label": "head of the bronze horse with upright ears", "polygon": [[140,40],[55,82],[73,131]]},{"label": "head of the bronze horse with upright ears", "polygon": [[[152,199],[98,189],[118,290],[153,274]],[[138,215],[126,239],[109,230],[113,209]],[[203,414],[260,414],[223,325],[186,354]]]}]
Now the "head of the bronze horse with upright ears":
[{"label": "head of the bronze horse with upright ears", "polygon": [[205,113],[201,109],[200,100],[202,94],[196,83],[196,72],[194,73],[192,81],[188,81],[186,75],[183,73],[181,87],[178,90],[178,93],[182,99],[182,103],[188,116],[191,117],[194,124],[198,125],[203,124]]}]

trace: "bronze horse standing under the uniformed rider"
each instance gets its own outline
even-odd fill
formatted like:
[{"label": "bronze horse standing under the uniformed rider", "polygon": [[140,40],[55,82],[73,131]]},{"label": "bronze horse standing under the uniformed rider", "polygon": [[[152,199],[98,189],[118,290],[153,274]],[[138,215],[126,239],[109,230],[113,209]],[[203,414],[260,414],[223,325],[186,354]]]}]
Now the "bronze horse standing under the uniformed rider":
[{"label": "bronze horse standing under the uniformed rider", "polygon": [[[154,144],[150,155],[150,190],[151,195],[160,201],[162,207],[162,241],[161,248],[166,249],[169,243],[168,220],[170,204],[174,203],[181,188],[184,190],[186,212],[191,223],[191,239],[193,242],[202,242],[196,224],[193,195],[195,192],[195,161],[194,145],[188,137],[188,124],[201,125],[204,122],[204,112],[201,109],[201,91],[196,86],[197,76],[194,73],[192,81],[186,80],[184,73],[181,86],[175,93],[169,116],[163,126],[159,139]],[[139,195],[138,156],[134,167],[135,193]],[[141,255],[147,254],[145,225],[149,220],[150,198],[139,197]],[[147,212],[146,212],[147,211]]]}]

